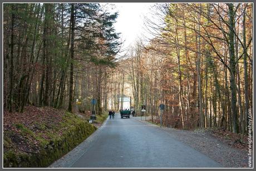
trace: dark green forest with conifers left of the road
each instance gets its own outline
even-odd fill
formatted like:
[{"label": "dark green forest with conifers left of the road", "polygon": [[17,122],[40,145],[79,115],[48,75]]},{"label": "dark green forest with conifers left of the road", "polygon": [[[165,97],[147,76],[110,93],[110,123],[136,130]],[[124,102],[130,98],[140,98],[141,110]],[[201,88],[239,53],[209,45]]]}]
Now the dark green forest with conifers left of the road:
[{"label": "dark green forest with conifers left of the road", "polygon": [[4,4],[4,110],[101,101],[119,51],[116,17],[96,3]]}]

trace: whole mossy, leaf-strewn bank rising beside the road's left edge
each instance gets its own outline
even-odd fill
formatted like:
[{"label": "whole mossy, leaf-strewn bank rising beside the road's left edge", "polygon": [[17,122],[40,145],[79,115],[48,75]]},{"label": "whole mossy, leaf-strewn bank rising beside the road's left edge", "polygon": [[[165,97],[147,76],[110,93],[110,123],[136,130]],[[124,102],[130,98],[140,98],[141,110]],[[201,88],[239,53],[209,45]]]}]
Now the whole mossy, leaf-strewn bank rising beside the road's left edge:
[{"label": "whole mossy, leaf-strewn bank rising beside the road's left edge", "polygon": [[50,107],[33,108],[36,113],[29,110],[4,113],[4,168],[48,167],[97,129],[66,111]]}]

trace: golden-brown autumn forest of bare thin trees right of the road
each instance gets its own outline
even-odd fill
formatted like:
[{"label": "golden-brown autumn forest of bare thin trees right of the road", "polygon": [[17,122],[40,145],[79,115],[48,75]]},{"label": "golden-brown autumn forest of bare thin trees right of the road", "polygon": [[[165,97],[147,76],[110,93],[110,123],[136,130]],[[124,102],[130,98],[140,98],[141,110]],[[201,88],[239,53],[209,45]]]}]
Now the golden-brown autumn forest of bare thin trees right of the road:
[{"label": "golden-brown autumn forest of bare thin trees right of the road", "polygon": [[[126,59],[135,106],[144,104],[164,125],[248,132],[253,107],[252,4],[158,4]],[[160,21],[160,22],[159,22]],[[158,113],[158,114],[157,114]],[[159,117],[156,117],[159,120]]]}]

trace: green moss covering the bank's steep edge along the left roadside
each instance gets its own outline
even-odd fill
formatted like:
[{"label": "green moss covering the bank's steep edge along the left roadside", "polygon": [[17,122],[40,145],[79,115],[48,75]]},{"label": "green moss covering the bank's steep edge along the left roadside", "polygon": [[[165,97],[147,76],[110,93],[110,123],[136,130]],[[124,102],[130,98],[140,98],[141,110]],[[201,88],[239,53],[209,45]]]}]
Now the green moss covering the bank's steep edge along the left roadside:
[{"label": "green moss covering the bank's steep edge along the left roadside", "polygon": [[[71,151],[78,144],[83,142],[97,128],[86,120],[66,112],[63,121],[54,129],[47,131],[50,140],[43,138],[43,133],[34,133],[31,129],[16,124],[16,128],[23,134],[27,134],[40,141],[40,151],[38,153],[17,153],[11,149],[4,151],[4,167],[48,167],[58,158]],[[58,133],[62,131],[62,135]],[[5,138],[6,146],[11,143],[11,139]]]}]

